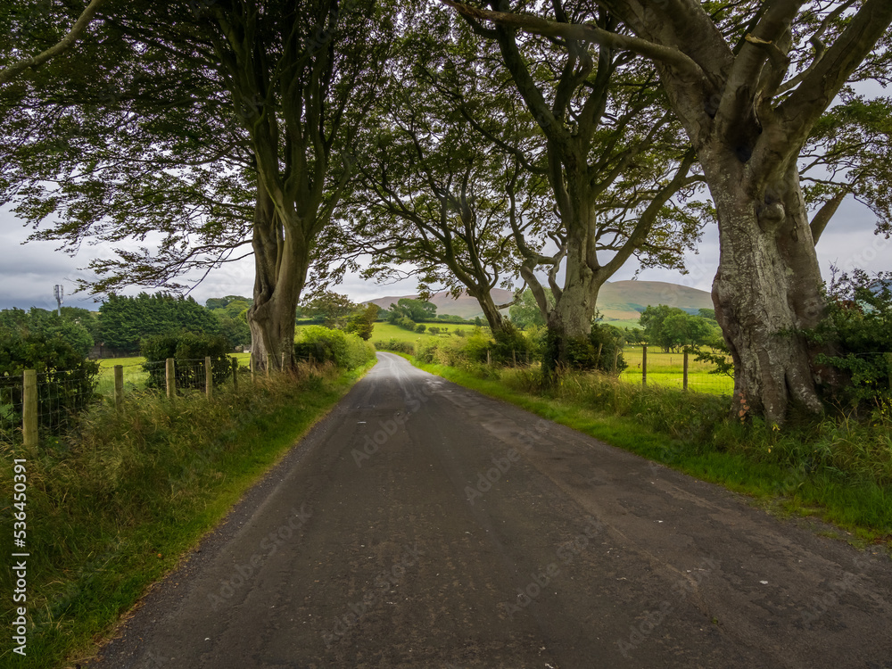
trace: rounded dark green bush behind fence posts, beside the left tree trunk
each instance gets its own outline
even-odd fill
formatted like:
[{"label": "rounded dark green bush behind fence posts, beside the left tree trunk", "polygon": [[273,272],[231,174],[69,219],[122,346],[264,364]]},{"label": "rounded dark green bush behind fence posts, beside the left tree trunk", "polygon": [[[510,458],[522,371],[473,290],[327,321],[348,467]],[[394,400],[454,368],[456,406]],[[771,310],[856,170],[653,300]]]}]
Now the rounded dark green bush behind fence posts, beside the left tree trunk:
[{"label": "rounded dark green bush behind fence posts, beside the left tree trunk", "polygon": [[177,387],[203,390],[206,384],[204,359],[211,358],[211,376],[215,385],[225,384],[232,373],[229,340],[224,335],[155,335],[140,346],[145,356],[143,368],[149,373],[146,386],[163,388],[166,381],[164,361],[174,359]]}]

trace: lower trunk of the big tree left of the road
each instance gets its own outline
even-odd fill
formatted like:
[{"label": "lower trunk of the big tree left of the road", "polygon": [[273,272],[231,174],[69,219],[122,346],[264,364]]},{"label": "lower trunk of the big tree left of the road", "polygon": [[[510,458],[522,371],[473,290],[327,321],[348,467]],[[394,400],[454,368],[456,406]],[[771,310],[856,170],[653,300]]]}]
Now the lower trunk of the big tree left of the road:
[{"label": "lower trunk of the big tree left of the road", "polygon": [[[248,310],[251,350],[259,367],[291,368],[294,315],[310,267],[309,249],[285,226],[266,190],[258,185],[254,211],[254,301]],[[284,362],[283,362],[284,361]]]}]

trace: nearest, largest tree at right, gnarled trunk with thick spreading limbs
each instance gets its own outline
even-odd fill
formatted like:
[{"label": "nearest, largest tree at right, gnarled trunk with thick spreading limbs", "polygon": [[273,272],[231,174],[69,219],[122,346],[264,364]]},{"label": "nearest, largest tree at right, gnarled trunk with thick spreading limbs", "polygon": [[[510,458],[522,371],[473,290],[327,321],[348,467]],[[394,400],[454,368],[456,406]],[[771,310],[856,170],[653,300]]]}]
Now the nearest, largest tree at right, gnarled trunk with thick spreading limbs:
[{"label": "nearest, largest tree at right, gnarled trunk with thick spreading limbs", "polygon": [[825,306],[797,159],[847,81],[888,78],[892,3],[593,3],[632,35],[453,5],[503,30],[582,40],[654,63],[719,219],[713,300],[734,359],[735,410],[777,423],[790,409],[821,413],[816,384],[831,381],[829,372],[797,334],[814,327]]}]

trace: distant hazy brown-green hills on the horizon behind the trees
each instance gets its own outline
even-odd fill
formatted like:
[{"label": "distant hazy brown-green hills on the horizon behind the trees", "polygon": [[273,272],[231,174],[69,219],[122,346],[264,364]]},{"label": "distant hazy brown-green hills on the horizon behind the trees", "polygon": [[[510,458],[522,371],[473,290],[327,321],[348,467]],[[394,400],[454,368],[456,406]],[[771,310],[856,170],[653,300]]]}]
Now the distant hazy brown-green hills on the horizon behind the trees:
[{"label": "distant hazy brown-green hills on the horizon behind the trees", "polygon": [[[496,304],[505,304],[511,301],[511,294],[511,291],[496,288],[492,291],[492,298]],[[396,304],[403,297],[418,299],[417,295],[388,295],[370,301],[375,302],[383,309],[390,309],[391,304]],[[430,301],[437,305],[438,314],[452,314],[461,318],[483,316],[480,305],[467,294],[453,299],[450,293],[444,291],[435,293]],[[712,309],[713,298],[706,291],[686,285],[667,284],[663,281],[607,282],[601,287],[598,295],[598,309],[607,322],[638,320],[641,311],[645,310],[648,305],[656,306],[657,304],[666,304],[690,313],[697,313],[700,309]],[[508,310],[504,311],[507,313]]]}]

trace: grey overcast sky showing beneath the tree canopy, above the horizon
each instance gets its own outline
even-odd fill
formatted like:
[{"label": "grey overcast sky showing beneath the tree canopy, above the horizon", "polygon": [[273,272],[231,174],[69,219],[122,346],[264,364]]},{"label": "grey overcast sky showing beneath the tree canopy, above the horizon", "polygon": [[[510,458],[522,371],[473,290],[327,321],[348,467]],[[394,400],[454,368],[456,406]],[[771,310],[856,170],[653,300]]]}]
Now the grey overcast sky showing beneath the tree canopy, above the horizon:
[{"label": "grey overcast sky showing beneath the tree canopy, above the horizon", "polygon": [[[824,277],[830,276],[830,265],[839,268],[864,268],[871,272],[892,270],[892,241],[873,234],[875,219],[872,212],[849,197],[839,208],[830,227],[818,244]],[[78,255],[70,257],[57,251],[57,244],[28,242],[29,228],[23,227],[10,211],[0,211],[0,309],[41,307],[54,309],[53,286],[61,284],[65,291],[65,304],[72,307],[97,309],[89,296],[74,291],[74,282],[80,277],[89,278],[84,270],[90,260],[109,254],[107,249],[85,244]],[[718,240],[714,228],[706,231],[697,255],[687,258],[690,273],[664,269],[646,269],[639,275],[641,280],[668,281],[708,291],[712,285],[718,264]],[[636,266],[627,263],[613,280],[632,278]],[[192,291],[195,300],[204,303],[209,297],[222,295],[251,296],[253,285],[252,260],[242,260],[221,268],[207,277]],[[138,292],[134,288],[132,293]],[[384,295],[415,293],[413,280],[394,285],[376,285],[359,277],[345,277],[338,292],[347,293],[354,301],[365,301]]]}]

